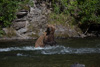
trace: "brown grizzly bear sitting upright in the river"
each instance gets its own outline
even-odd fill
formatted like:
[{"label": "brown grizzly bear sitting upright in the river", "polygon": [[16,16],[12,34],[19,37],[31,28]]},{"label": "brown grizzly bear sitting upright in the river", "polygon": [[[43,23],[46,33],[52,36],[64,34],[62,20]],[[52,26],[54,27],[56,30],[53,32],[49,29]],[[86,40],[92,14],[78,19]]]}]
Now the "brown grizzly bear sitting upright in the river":
[{"label": "brown grizzly bear sitting upright in the river", "polygon": [[45,47],[46,45],[56,45],[56,41],[54,40],[54,32],[55,32],[55,27],[54,25],[47,25],[47,29],[44,32],[43,35],[41,35],[36,43],[35,47]]}]

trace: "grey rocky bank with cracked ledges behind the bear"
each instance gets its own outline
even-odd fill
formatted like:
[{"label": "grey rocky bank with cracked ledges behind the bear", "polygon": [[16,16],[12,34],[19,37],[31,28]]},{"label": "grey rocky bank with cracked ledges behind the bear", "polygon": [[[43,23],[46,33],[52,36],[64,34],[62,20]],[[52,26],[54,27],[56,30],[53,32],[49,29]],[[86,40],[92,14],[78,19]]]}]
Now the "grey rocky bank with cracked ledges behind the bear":
[{"label": "grey rocky bank with cracked ledges behind the bear", "polygon": [[[45,31],[48,22],[48,14],[52,8],[48,8],[46,1],[32,1],[33,7],[26,5],[27,9],[22,9],[16,13],[17,18],[12,22],[9,28],[3,28],[5,32],[1,39],[36,39]],[[54,24],[56,27],[55,37],[85,37],[78,26],[71,26],[66,21],[66,25]]]}]

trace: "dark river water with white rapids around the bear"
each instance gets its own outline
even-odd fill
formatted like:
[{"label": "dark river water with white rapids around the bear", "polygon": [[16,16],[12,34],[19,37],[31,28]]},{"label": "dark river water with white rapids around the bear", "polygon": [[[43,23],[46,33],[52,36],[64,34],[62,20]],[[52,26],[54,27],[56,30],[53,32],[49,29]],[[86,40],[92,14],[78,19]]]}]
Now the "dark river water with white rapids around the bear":
[{"label": "dark river water with white rapids around the bear", "polygon": [[34,48],[35,40],[0,41],[0,67],[100,67],[100,38],[57,39]]}]

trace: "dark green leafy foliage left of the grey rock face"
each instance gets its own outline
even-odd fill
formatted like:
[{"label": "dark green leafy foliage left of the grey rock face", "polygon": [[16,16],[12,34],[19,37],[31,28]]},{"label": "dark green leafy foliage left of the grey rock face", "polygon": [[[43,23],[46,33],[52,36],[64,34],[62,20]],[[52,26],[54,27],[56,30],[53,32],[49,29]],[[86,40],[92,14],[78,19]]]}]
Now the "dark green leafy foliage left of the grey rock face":
[{"label": "dark green leafy foliage left of the grey rock face", "polygon": [[[0,0],[0,25],[9,26],[16,18],[15,13],[20,9],[29,8],[26,6],[30,0]],[[32,4],[32,3],[31,3]]]}]

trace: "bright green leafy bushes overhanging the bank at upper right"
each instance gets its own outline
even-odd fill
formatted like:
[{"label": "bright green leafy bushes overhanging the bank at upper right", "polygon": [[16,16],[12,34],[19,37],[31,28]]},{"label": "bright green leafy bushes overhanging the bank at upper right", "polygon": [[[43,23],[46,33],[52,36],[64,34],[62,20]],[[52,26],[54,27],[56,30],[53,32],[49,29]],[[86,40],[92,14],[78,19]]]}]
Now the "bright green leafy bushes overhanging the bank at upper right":
[{"label": "bright green leafy bushes overhanging the bank at upper right", "polygon": [[77,24],[100,23],[100,0],[52,0],[56,14],[71,15]]}]

